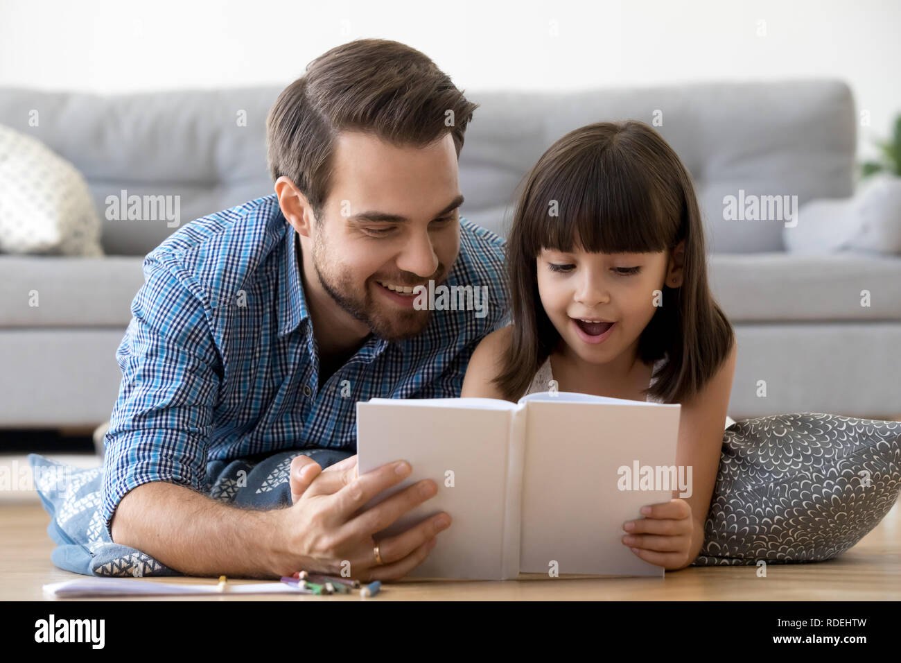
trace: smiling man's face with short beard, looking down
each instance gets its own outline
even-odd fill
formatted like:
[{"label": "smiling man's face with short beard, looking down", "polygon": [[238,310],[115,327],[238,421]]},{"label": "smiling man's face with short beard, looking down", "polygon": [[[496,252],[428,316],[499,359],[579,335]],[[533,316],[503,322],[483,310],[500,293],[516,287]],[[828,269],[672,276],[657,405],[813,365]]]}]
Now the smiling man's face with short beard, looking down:
[{"label": "smiling man's face with short beard, looking down", "polygon": [[414,308],[414,286],[444,281],[460,251],[463,197],[453,138],[397,147],[344,132],[333,164],[332,188],[312,233],[323,290],[376,336],[415,336],[431,311]]}]

